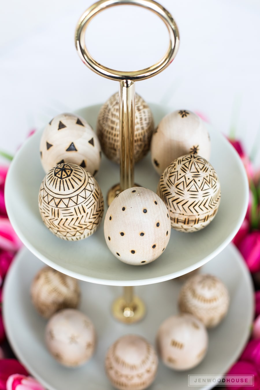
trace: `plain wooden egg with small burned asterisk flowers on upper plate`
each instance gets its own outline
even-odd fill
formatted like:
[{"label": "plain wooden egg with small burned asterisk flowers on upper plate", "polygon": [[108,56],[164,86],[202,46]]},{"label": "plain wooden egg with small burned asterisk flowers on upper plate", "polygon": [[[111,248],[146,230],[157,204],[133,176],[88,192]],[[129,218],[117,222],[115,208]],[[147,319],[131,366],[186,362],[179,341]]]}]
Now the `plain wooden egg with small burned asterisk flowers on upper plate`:
[{"label": "plain wooden egg with small burned asterisk flowers on upper plate", "polygon": [[166,115],[154,131],[152,164],[161,175],[173,160],[189,153],[209,160],[209,133],[198,115],[188,110],[177,110]]}]

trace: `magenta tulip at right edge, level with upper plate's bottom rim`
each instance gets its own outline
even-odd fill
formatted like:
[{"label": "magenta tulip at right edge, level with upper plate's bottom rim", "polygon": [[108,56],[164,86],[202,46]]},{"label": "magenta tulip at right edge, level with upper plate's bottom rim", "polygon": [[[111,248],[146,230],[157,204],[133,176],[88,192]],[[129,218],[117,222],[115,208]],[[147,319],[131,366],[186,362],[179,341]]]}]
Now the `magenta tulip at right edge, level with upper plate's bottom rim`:
[{"label": "magenta tulip at right edge, level with upper plate's bottom rim", "polygon": [[248,234],[238,245],[251,272],[260,270],[260,231]]}]

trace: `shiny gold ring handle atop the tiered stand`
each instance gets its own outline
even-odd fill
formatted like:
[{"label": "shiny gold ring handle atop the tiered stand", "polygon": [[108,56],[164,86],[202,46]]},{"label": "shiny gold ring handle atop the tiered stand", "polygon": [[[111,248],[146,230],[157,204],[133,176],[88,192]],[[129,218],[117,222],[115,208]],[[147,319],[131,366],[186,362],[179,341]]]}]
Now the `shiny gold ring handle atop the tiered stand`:
[{"label": "shiny gold ring handle atop the tiered stand", "polygon": [[[90,21],[103,9],[108,7],[113,7],[114,5],[138,5],[149,9],[158,15],[163,22],[165,23],[169,35],[170,35],[170,44],[166,54],[161,60],[156,62],[156,64],[141,69],[139,71],[133,72],[123,72],[116,71],[114,69],[108,68],[99,64],[94,58],[88,53],[85,45],[85,32]],[[80,55],[81,60],[87,65],[92,71],[109,78],[111,80],[145,80],[149,77],[154,76],[155,74],[160,73],[172,62],[175,57],[178,48],[179,48],[179,31],[175,21],[172,18],[172,15],[160,4],[153,0],[100,0],[95,4],[91,5],[81,16],[78,21],[75,33],[75,44],[76,49]]]}]

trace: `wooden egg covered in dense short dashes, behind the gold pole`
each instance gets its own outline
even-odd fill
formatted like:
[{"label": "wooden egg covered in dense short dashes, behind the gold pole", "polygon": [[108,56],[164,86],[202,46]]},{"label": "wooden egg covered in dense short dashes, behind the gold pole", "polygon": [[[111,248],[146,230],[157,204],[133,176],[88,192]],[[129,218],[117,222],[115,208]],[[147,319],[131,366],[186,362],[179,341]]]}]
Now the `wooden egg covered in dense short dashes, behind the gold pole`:
[{"label": "wooden egg covered in dense short dashes, behind the gold pole", "polygon": [[[134,161],[140,161],[149,151],[154,120],[149,106],[135,95]],[[97,136],[102,151],[109,160],[120,163],[119,96],[113,94],[101,107],[97,118]]]}]

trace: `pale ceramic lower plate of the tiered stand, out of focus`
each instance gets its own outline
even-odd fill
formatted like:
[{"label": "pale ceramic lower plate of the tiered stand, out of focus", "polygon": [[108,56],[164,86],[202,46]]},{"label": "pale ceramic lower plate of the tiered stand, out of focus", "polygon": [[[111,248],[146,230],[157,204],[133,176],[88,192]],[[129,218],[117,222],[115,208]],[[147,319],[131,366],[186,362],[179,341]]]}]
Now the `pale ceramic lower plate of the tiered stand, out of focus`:
[{"label": "pale ceramic lower plate of the tiered stand, out of focus", "polygon": [[[111,303],[122,293],[120,287],[80,282],[80,310],[94,322],[97,350],[83,367],[66,369],[46,350],[46,320],[35,312],[30,301],[30,284],[42,266],[42,262],[27,249],[20,252],[5,281],[4,321],[8,339],[18,358],[49,390],[112,390],[104,372],[108,347],[127,333],[142,335],[155,345],[159,325],[177,313],[177,297],[182,285],[178,280],[136,287],[135,293],[145,302],[147,316],[133,325],[118,323],[110,314]],[[160,362],[156,381],[150,390],[186,390],[188,374],[225,374],[248,339],[254,309],[253,286],[237,249],[230,244],[205,264],[201,272],[216,275],[226,284],[231,297],[228,315],[217,328],[209,331],[209,350],[200,365],[189,372],[174,372]]]}]

